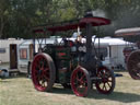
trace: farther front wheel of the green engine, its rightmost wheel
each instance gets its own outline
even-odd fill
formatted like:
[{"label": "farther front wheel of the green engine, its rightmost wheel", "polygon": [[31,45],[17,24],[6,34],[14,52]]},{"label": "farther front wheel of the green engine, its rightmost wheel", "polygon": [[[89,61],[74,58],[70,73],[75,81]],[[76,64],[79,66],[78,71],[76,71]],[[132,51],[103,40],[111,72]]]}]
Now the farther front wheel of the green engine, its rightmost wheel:
[{"label": "farther front wheel of the green engine, its rightmost wheel", "polygon": [[96,89],[103,94],[109,94],[115,88],[115,78],[112,72],[105,68],[98,68],[97,77],[101,78],[100,82],[96,82]]}]

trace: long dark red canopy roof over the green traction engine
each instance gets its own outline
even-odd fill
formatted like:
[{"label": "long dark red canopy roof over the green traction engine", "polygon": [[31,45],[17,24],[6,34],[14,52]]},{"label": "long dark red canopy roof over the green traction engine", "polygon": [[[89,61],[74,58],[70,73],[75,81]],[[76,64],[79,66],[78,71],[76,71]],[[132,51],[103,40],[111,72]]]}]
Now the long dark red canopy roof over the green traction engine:
[{"label": "long dark red canopy roof over the green traction engine", "polygon": [[34,33],[44,33],[44,28],[46,27],[46,31],[50,31],[50,32],[61,32],[61,31],[69,31],[69,30],[77,30],[78,26],[80,28],[84,28],[86,26],[88,23],[91,23],[92,26],[100,26],[100,25],[107,25],[110,24],[110,20],[105,19],[105,18],[83,18],[74,23],[71,22],[67,22],[63,23],[59,26],[40,26],[38,28],[34,30]]}]

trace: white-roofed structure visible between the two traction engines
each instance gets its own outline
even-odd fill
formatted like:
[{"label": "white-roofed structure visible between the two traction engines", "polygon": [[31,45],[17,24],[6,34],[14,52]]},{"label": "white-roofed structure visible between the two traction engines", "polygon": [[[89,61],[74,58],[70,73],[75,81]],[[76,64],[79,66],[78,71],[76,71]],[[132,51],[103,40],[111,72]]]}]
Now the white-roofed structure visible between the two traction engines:
[{"label": "white-roofed structure visible between the two traction engines", "polygon": [[[97,40],[95,40],[97,43]],[[125,56],[124,56],[124,48],[126,47],[128,42],[122,40],[122,38],[110,38],[105,37],[100,39],[101,43],[108,43],[109,47],[109,57],[106,59],[106,62],[110,67],[114,67],[115,69],[121,69],[120,67],[126,67],[125,63]]]}]

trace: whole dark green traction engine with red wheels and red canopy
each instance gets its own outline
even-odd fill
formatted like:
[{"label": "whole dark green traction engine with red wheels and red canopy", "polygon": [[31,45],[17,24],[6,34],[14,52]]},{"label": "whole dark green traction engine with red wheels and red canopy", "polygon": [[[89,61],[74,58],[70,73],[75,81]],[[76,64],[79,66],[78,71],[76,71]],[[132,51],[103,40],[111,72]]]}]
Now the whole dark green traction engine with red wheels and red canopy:
[{"label": "whole dark green traction engine with red wheels and red canopy", "polygon": [[[45,44],[35,54],[32,62],[32,80],[36,90],[50,91],[54,83],[71,88],[78,96],[86,96],[93,86],[103,94],[109,94],[115,88],[114,72],[102,65],[100,57],[93,52],[92,26],[109,24],[104,18],[91,14],[80,20],[60,23],[61,25],[43,25],[33,30],[37,33],[56,33],[69,30],[85,28],[86,43],[62,38],[57,44]],[[44,38],[44,42],[46,38]],[[34,39],[35,46],[36,39]],[[39,44],[40,45],[40,44]],[[81,50],[81,49],[84,50]],[[34,47],[35,49],[35,47]]]}]

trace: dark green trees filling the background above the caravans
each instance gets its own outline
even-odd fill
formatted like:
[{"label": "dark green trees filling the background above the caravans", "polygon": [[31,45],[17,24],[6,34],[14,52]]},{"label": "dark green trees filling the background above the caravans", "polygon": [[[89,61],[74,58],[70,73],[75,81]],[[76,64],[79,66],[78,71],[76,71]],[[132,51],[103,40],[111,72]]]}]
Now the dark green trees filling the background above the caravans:
[{"label": "dark green trees filling the background above the caravans", "polygon": [[[104,14],[112,25],[102,35],[140,26],[140,0],[0,0],[0,38],[31,38],[31,27],[82,18],[88,10]],[[94,13],[94,12],[93,12]]]}]

